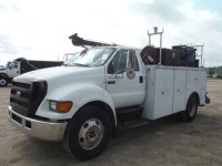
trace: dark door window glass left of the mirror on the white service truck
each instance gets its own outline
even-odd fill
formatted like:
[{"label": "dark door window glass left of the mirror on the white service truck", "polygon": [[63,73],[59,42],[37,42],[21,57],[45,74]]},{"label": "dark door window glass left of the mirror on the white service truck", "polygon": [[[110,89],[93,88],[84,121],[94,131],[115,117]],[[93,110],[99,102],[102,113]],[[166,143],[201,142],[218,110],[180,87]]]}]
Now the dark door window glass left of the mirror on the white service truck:
[{"label": "dark door window glass left of the mirror on the white service truck", "polygon": [[108,66],[108,74],[113,74],[127,69],[128,51],[119,51]]}]

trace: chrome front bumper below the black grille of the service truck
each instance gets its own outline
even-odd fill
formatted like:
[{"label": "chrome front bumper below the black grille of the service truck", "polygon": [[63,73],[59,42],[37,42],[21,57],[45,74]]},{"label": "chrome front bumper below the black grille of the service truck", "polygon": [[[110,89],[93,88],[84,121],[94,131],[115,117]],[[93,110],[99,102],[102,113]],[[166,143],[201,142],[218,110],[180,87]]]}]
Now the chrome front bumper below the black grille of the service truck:
[{"label": "chrome front bumper below the black grille of the service truck", "polygon": [[53,142],[62,141],[68,124],[67,122],[29,118],[16,113],[11,106],[9,106],[9,121],[13,126],[30,136]]}]

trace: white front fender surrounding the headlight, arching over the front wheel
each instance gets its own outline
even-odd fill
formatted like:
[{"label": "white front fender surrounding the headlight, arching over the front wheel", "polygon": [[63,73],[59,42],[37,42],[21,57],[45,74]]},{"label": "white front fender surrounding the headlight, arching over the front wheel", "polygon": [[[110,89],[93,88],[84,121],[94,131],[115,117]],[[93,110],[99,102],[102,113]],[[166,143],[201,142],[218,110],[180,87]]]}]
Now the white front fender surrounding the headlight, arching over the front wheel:
[{"label": "white front fender surrounding the headlight, arching over the front wheel", "polygon": [[[60,86],[60,89],[49,90],[44,101],[40,104],[36,115],[54,118],[69,120],[81,108],[91,102],[103,102],[110,106],[115,118],[114,104],[110,95],[100,86],[92,83],[77,83]],[[61,114],[49,111],[49,102],[53,101],[72,101],[73,105],[70,112]],[[114,120],[115,122],[117,120]],[[117,123],[117,122],[115,122]]]}]

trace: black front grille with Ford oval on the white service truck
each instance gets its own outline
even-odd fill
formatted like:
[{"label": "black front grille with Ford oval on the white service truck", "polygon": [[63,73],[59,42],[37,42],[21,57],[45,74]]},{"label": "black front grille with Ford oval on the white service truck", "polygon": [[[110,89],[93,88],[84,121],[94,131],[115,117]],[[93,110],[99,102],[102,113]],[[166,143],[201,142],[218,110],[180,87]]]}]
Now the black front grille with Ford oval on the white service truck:
[{"label": "black front grille with Ford oval on the white service truck", "polygon": [[47,82],[12,82],[10,105],[12,110],[24,116],[33,116],[47,94]]}]

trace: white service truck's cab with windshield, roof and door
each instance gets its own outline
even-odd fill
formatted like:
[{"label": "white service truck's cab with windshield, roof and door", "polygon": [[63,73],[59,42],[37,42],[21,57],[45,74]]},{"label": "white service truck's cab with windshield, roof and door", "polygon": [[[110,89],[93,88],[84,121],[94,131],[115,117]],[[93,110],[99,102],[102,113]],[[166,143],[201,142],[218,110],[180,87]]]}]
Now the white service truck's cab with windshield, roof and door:
[{"label": "white service truck's cab with windshield, roof and door", "polygon": [[[90,58],[92,53],[95,54]],[[81,56],[84,58],[80,59]],[[119,108],[140,105],[144,100],[145,72],[144,66],[139,62],[141,59],[138,56],[139,50],[137,49],[118,46],[93,48],[74,55],[64,65],[102,70],[104,73],[100,83],[101,89],[109,93],[114,107]],[[97,75],[97,73],[92,73],[91,79],[94,74]]]}]

